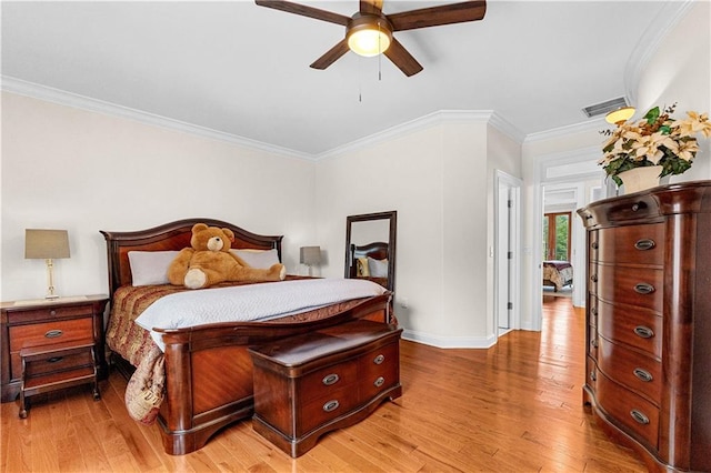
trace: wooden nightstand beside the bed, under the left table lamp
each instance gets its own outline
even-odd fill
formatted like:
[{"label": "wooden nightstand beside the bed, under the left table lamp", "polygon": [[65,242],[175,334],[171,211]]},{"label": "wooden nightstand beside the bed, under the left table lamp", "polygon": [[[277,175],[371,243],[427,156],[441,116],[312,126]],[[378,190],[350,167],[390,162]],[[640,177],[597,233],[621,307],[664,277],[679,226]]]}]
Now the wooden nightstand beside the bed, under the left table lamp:
[{"label": "wooden nightstand beside the bed, under the left table lamp", "polygon": [[1,400],[70,385],[107,374],[103,338],[104,294],[0,303]]}]

